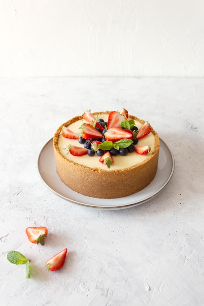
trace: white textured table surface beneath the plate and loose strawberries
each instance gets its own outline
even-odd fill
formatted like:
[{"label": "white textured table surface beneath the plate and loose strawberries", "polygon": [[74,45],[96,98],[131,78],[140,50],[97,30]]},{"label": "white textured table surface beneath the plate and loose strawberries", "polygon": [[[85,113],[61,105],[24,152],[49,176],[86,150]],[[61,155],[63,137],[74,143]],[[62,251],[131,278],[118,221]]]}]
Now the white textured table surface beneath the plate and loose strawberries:
[{"label": "white textured table surface beneath the plate and loose strawberries", "polygon": [[[0,79],[0,305],[204,305],[204,79]],[[61,123],[85,110],[148,120],[175,157],[152,200],[98,210],[57,197],[37,171]],[[45,246],[25,228],[46,226]],[[45,261],[65,247],[57,272]],[[18,250],[25,266],[7,261]]]}]

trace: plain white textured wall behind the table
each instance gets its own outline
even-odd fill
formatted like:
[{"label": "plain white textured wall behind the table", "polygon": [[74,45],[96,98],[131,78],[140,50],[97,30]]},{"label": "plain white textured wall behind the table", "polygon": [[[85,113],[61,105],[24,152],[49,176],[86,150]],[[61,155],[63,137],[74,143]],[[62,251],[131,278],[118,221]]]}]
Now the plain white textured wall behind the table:
[{"label": "plain white textured wall behind the table", "polygon": [[204,76],[203,0],[0,0],[0,77]]}]

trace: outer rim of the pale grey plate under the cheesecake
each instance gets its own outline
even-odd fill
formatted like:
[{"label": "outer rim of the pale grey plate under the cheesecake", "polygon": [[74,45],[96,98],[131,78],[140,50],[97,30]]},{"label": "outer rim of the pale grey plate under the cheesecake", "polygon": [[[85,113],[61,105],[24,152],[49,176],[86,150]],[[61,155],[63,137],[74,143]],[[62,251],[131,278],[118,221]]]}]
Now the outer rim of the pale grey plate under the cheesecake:
[{"label": "outer rim of the pale grey plate under the cheesecake", "polygon": [[[56,190],[54,190],[52,187],[50,187],[48,185],[48,183],[45,181],[45,179],[43,178],[41,172],[40,172],[40,159],[41,159],[41,155],[45,149],[45,147],[49,144],[49,142],[53,142],[53,137],[51,137],[46,143],[45,145],[43,146],[43,148],[41,149],[40,153],[39,153],[39,156],[38,156],[38,160],[37,160],[37,170],[38,170],[38,174],[41,178],[41,180],[43,181],[44,185],[47,187],[48,190],[50,190],[53,194],[55,194],[56,196],[58,197],[61,197],[71,203],[74,203],[74,204],[77,204],[77,205],[80,205],[80,206],[84,206],[84,207],[90,207],[90,208],[96,208],[96,209],[104,209],[104,210],[118,210],[118,209],[126,209],[126,208],[131,208],[131,207],[135,207],[135,206],[138,206],[138,205],[141,205],[149,200],[151,200],[152,198],[156,197],[165,187],[166,185],[169,183],[169,181],[171,180],[173,174],[174,174],[174,170],[175,170],[175,158],[174,158],[174,155],[171,151],[171,149],[167,146],[166,142],[163,141],[160,137],[160,142],[163,143],[163,145],[166,147],[166,149],[168,150],[169,154],[170,154],[170,157],[171,157],[171,162],[172,162],[172,168],[171,168],[171,172],[168,176],[168,178],[165,180],[164,184],[156,191],[154,192],[153,194],[151,194],[149,197],[146,197],[142,200],[139,200],[135,203],[130,203],[130,204],[125,204],[125,205],[121,205],[121,206],[99,206],[99,205],[91,205],[91,204],[88,204],[88,203],[83,203],[83,202],[80,202],[80,201],[75,201],[73,199],[70,199],[68,197],[65,197],[63,195],[61,195],[59,192],[57,192]],[[154,178],[155,179],[155,178]],[[154,181],[153,179],[153,181]],[[63,184],[63,182],[62,182]],[[147,186],[148,187],[148,186]],[[67,187],[68,188],[68,187]],[[69,189],[69,188],[68,188]],[[73,191],[72,191],[73,192]],[[138,192],[139,193],[139,192]],[[137,193],[137,194],[138,194]],[[83,195],[80,195],[83,197]],[[93,198],[93,197],[92,197]],[[93,199],[96,199],[97,198],[93,198]],[[107,199],[108,200],[108,199]],[[112,199],[109,199],[109,200],[112,200]]]}]

